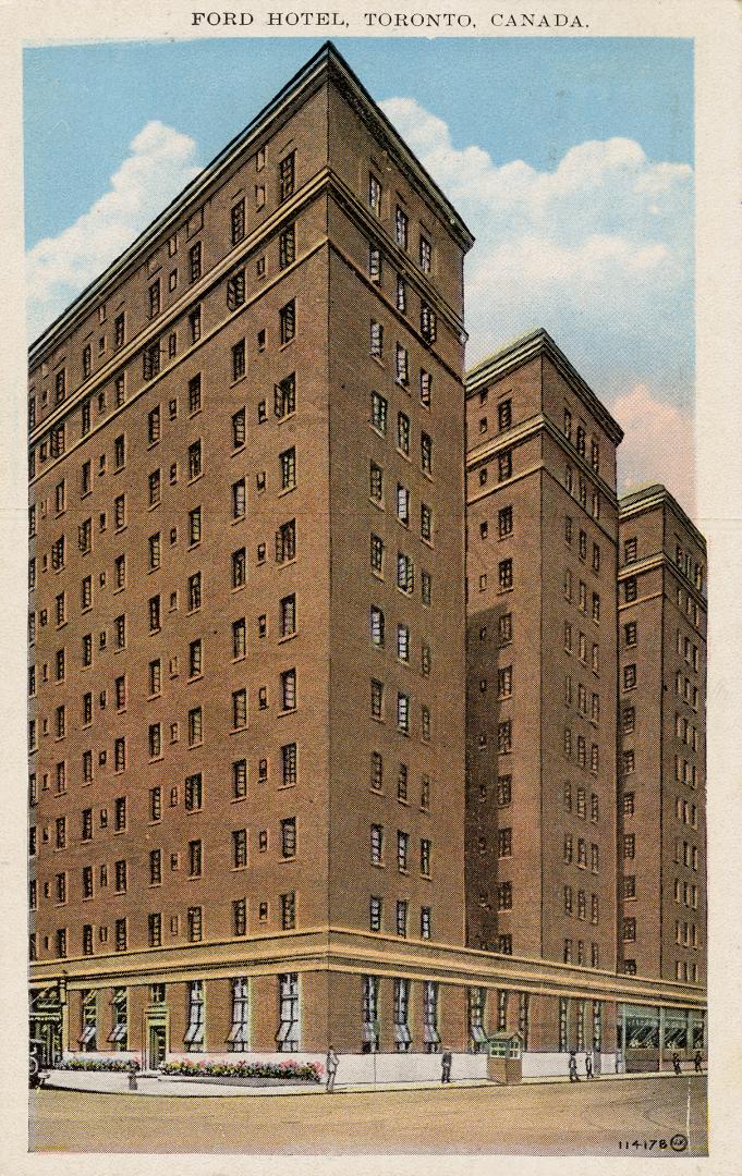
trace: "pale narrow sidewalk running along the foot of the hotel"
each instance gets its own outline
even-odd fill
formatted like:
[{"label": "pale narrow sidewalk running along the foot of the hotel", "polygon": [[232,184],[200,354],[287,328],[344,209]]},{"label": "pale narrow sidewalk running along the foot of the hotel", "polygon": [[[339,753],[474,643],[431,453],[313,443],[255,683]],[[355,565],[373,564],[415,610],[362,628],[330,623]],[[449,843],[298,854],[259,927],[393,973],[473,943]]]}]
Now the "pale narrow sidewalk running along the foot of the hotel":
[{"label": "pale narrow sidewalk running along the foot of the hotel", "polygon": [[[707,1071],[704,1070],[703,1074]],[[683,1071],[682,1077],[690,1077],[693,1071]],[[593,1082],[630,1082],[635,1078],[673,1078],[671,1070],[656,1070],[647,1074],[600,1074]],[[582,1082],[587,1080],[581,1078]],[[550,1085],[554,1083],[569,1083],[567,1075],[553,1075],[543,1077],[523,1078],[523,1085]],[[454,1080],[448,1087],[440,1082],[380,1082],[377,1085],[363,1083],[357,1085],[336,1085],[336,1095],[349,1094],[376,1094],[392,1090],[461,1090],[472,1088],[490,1087],[494,1089],[507,1089],[502,1083],[489,1082],[487,1078],[460,1078]],[[285,1083],[275,1087],[243,1087],[228,1085],[226,1083],[208,1082],[206,1078],[189,1081],[187,1078],[168,1077],[143,1077],[138,1076],[136,1090],[129,1090],[128,1075],[111,1073],[93,1073],[89,1070],[51,1070],[44,1082],[46,1090],[79,1090],[88,1094],[100,1095],[156,1095],[168,1098],[263,1098],[281,1095],[323,1095],[325,1084],[292,1085]]]}]

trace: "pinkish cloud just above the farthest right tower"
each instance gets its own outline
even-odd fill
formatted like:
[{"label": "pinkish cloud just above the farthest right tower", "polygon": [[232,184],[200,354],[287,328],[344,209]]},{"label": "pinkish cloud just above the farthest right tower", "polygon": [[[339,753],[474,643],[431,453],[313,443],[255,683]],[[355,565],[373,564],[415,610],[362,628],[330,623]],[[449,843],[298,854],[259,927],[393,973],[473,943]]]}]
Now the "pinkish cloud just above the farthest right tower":
[{"label": "pinkish cloud just above the farthest right tower", "polygon": [[619,449],[619,494],[662,482],[683,509],[695,509],[693,417],[657,399],[644,383],[609,406],[624,430]]}]

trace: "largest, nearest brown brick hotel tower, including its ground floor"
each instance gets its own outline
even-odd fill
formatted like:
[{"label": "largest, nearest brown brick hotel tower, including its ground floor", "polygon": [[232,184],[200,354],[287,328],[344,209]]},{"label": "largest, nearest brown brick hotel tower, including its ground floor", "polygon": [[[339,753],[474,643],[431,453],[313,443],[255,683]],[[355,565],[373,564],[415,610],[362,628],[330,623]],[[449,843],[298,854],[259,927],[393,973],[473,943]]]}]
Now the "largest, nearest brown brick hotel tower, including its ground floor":
[{"label": "largest, nearest brown brick hotel tower, including its ground floor", "polygon": [[463,946],[470,245],[326,46],[31,348],[54,1048],[437,1047],[392,961]]}]

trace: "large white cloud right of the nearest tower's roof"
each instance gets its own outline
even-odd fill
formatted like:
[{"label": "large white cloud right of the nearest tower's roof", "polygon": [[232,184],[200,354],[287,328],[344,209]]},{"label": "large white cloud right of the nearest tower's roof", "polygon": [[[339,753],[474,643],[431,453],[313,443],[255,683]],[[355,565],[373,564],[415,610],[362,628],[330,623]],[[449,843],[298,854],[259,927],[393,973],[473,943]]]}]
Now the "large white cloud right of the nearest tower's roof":
[{"label": "large white cloud right of the nearest tower's roof", "polygon": [[571,147],[554,171],[454,147],[412,99],[385,112],[476,236],[468,362],[546,327],[602,399],[635,382],[691,399],[693,171],[629,139]]}]

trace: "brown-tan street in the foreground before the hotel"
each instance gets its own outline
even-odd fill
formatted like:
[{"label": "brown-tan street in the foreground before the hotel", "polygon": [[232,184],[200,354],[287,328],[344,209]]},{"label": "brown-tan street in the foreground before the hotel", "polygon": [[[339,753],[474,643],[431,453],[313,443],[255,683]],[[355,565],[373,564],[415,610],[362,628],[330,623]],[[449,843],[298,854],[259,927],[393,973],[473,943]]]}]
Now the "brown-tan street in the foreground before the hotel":
[{"label": "brown-tan street in the foreground before the hotel", "polygon": [[31,1115],[31,1150],[58,1152],[702,1156],[708,1147],[701,1076],[260,1098],[38,1090]]}]

